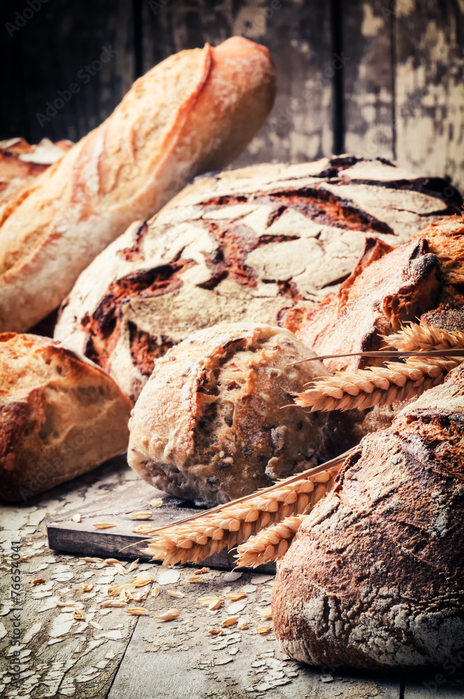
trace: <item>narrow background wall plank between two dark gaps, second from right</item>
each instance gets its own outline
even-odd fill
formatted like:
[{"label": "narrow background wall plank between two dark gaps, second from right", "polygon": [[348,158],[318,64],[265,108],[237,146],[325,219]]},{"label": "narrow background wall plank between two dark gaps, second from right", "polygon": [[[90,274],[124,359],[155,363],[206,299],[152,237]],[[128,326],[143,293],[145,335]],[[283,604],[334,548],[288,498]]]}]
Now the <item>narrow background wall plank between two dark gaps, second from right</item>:
[{"label": "narrow background wall plank between two dark gaps, second from right", "polygon": [[393,13],[384,0],[343,7],[345,150],[393,158]]}]

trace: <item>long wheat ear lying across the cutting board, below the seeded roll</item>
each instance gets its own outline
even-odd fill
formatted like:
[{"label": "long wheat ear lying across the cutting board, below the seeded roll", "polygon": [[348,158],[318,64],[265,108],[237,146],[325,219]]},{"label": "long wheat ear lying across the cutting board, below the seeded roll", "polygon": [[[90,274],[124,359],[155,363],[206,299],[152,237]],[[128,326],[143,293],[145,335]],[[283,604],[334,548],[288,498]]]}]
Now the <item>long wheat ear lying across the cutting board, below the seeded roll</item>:
[{"label": "long wheat ear lying across the cutting board, below the seeded roll", "polygon": [[[337,459],[298,473],[265,490],[215,507],[205,514],[160,528],[144,553],[164,565],[199,563],[222,549],[231,549],[261,529],[313,507],[328,489],[349,449]],[[325,467],[325,468],[324,468]]]}]

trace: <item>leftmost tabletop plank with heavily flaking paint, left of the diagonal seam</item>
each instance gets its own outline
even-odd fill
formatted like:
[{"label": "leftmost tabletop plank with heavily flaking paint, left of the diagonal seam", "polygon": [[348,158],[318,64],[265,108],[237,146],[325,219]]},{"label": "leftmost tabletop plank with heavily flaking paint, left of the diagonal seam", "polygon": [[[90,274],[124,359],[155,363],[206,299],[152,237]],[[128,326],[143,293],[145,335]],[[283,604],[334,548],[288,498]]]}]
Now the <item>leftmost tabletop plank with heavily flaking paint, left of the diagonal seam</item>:
[{"label": "leftmost tabletop plank with heavily flaking paint, left of the diagonal seam", "polygon": [[[108,693],[137,617],[121,609],[107,610],[100,603],[111,582],[140,575],[140,564],[122,576],[103,561],[56,555],[47,547],[45,517],[87,498],[94,500],[107,488],[124,487],[126,475],[130,482],[129,470],[119,474],[103,467],[30,503],[0,508],[0,696],[90,699]],[[15,582],[21,603],[17,606],[11,597],[12,540],[20,542],[19,554],[15,554],[21,556],[16,574],[19,582]],[[148,563],[143,566],[154,568]],[[34,584],[41,578],[43,584]],[[85,583],[92,586],[86,593]],[[85,620],[74,620],[73,607],[59,607],[58,600],[80,603]],[[15,628],[21,632],[20,646],[13,643]],[[14,651],[20,652],[19,687],[13,685],[17,678],[11,674]]]}]

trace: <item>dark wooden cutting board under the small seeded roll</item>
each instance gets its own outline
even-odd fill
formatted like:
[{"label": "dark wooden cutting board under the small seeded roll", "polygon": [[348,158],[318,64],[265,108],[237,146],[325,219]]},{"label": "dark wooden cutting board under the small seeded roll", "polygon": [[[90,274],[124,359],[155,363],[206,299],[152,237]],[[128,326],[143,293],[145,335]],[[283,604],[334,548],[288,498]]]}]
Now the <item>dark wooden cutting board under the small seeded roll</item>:
[{"label": "dark wooden cutting board under the small seeded roll", "polygon": [[[153,508],[150,500],[157,498],[161,498],[162,505]],[[145,510],[153,513],[150,520],[131,519],[131,513]],[[55,551],[81,556],[150,560],[150,556],[143,553],[147,537],[134,532],[133,529],[140,524],[164,526],[198,512],[201,512],[200,507],[194,507],[186,500],[174,498],[139,481],[133,486],[111,493],[101,500],[48,521],[48,544]],[[80,521],[73,521],[75,514],[80,514]],[[111,522],[115,526],[96,529],[93,525],[97,522]],[[232,570],[235,568],[234,553],[234,550],[231,552],[224,550],[214,554],[202,561],[200,567],[208,565],[210,568]],[[262,565],[259,570],[275,572],[275,563]]]}]

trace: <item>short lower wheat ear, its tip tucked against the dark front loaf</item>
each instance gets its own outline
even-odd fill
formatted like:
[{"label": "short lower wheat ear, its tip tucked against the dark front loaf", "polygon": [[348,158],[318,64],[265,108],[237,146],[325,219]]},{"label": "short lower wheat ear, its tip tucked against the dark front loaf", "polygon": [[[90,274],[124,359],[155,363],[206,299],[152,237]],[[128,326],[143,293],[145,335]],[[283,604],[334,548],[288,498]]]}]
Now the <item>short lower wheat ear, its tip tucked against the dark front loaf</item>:
[{"label": "short lower wheat ear, its tip tucked against the dark front loaf", "polygon": [[238,568],[256,568],[257,565],[282,558],[306,516],[306,514],[298,514],[286,517],[275,526],[263,529],[256,536],[240,544],[237,549]]}]

